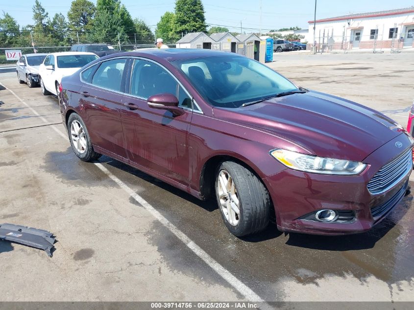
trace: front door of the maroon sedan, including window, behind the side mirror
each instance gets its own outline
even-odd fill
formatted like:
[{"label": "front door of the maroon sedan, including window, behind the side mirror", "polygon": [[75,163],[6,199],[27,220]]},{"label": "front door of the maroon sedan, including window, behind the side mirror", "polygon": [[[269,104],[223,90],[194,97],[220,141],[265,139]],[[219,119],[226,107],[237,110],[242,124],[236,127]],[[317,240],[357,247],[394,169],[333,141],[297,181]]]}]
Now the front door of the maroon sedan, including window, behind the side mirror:
[{"label": "front door of the maroon sedan, including window, behind the side mirror", "polygon": [[[192,99],[173,75],[159,64],[135,58],[128,94],[121,111],[127,158],[187,186]],[[148,106],[151,95],[169,93],[179,99],[184,114]]]}]

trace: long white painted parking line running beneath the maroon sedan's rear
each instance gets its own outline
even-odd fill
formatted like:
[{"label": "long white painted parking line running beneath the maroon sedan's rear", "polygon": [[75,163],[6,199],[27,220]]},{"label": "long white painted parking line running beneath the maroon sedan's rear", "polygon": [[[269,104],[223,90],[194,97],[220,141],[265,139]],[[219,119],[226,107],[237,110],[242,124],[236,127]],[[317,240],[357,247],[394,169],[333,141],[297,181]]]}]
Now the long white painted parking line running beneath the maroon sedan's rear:
[{"label": "long white painted parking line running beneath the maroon sedan's rear", "polygon": [[[10,91],[17,99],[19,99],[26,107],[28,107],[35,115],[40,116],[32,107],[30,107],[24,100],[22,100],[18,95],[16,95],[12,90],[5,87],[1,82],[0,85],[5,89]],[[45,118],[40,117],[44,122],[48,122]],[[50,126],[54,131],[56,131],[64,139],[69,139],[67,135],[62,133],[55,126]],[[209,265],[214,271],[216,271],[221,278],[223,278],[228,284],[233,286],[238,290],[248,301],[252,302],[264,302],[264,300],[257,295],[251,288],[246,286],[243,282],[237,279],[230,271],[224,268],[219,262],[215,261],[210,255],[207,254],[202,248],[200,248],[195,242],[190,239],[186,234],[181,232],[177,227],[175,227],[167,218],[161,215],[157,210],[155,210],[144,198],[138,195],[135,191],[131,190],[125,183],[123,183],[119,178],[112,174],[106,167],[101,163],[95,163],[95,165],[103,171],[109,178],[111,178],[115,183],[126,191],[135,201],[137,201],[141,206],[143,206],[152,216],[154,216],[158,221],[160,221],[165,227],[167,227],[171,233],[173,233],[177,238],[179,238],[184,244],[192,250],[195,255],[197,255],[203,262]]]}]

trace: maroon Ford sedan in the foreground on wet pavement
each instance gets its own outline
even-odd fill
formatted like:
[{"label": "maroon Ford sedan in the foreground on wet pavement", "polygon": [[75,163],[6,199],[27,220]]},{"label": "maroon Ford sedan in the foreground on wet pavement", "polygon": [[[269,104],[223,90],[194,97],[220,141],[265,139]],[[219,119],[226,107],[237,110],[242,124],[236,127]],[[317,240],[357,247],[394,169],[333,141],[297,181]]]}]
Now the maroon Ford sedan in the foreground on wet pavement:
[{"label": "maroon Ford sedan in the foreground on wet pavement", "polygon": [[105,154],[199,199],[215,195],[236,236],[272,215],[281,231],[364,232],[408,193],[413,140],[402,127],[244,56],[119,53],[61,88],[79,159]]}]

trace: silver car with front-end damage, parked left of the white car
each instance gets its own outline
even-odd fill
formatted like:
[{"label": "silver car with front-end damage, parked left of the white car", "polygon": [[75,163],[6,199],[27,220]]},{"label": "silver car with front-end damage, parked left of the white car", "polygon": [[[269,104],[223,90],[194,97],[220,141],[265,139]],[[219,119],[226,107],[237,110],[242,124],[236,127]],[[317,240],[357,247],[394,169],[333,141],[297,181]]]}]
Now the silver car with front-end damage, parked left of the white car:
[{"label": "silver car with front-end damage, parked left of the white car", "polygon": [[17,80],[32,88],[39,84],[39,66],[47,54],[25,54],[16,63]]}]

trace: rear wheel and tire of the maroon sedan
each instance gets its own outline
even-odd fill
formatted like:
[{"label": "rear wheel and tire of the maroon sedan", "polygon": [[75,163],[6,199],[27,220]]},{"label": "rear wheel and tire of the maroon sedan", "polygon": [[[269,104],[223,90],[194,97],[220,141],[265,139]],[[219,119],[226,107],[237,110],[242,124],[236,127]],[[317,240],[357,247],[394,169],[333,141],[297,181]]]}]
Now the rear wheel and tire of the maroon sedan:
[{"label": "rear wheel and tire of the maroon sedan", "polygon": [[94,151],[85,123],[76,113],[69,116],[68,135],[73,152],[80,160],[90,162],[101,156]]}]

